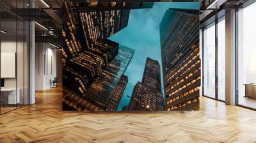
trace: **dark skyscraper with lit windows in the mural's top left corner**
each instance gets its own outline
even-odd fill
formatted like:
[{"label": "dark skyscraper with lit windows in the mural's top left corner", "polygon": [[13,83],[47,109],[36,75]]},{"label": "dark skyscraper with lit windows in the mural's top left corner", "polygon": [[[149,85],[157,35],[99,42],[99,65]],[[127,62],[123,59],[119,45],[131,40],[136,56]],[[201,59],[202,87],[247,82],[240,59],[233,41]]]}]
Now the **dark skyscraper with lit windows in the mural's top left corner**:
[{"label": "dark skyscraper with lit windows in the mural's top left corner", "polygon": [[66,14],[76,27],[77,38],[83,49],[90,49],[100,40],[127,26],[131,9],[152,8],[154,3],[89,2],[65,3]]}]

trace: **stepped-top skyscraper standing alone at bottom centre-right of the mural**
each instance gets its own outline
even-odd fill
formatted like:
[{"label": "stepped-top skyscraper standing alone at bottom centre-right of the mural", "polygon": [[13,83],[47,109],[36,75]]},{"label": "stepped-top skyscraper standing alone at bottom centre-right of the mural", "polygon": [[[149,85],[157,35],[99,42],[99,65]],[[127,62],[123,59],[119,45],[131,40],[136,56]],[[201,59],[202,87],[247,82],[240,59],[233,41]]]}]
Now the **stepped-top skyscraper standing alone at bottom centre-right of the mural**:
[{"label": "stepped-top skyscraper standing alone at bottom centre-right of the mural", "polygon": [[158,61],[147,57],[142,82],[134,87],[128,110],[164,110]]}]

